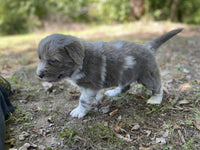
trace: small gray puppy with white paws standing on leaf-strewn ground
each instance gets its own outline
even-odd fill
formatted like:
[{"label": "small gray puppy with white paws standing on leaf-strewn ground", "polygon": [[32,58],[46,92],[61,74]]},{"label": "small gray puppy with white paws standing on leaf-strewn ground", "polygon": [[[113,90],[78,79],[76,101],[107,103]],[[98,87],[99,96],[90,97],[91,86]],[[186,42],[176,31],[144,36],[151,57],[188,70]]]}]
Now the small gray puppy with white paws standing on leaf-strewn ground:
[{"label": "small gray puppy with white paws standing on leaf-strewn ground", "polygon": [[161,84],[155,52],[158,47],[183,29],[172,30],[146,43],[128,41],[89,42],[69,35],[52,34],[39,43],[37,75],[41,80],[57,82],[69,78],[78,85],[79,105],[70,115],[82,118],[95,101],[100,102],[103,88],[116,96],[130,88],[132,82],[152,90],[150,104],[162,102]]}]

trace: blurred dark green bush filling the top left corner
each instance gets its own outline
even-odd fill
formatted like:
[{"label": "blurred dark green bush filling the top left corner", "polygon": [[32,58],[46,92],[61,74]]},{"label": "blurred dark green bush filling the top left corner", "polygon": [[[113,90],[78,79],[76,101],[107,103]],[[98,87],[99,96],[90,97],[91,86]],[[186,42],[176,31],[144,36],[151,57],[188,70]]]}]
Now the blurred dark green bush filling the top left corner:
[{"label": "blurred dark green bush filling the top left corner", "polygon": [[45,0],[1,0],[0,33],[25,33],[46,15]]}]

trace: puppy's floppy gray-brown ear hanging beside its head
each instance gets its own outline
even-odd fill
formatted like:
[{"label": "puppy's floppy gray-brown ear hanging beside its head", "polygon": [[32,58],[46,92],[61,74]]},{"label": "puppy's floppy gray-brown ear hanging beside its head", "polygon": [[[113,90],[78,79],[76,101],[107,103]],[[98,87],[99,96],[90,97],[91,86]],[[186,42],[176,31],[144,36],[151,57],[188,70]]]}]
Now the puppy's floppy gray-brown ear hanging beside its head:
[{"label": "puppy's floppy gray-brown ear hanging beside its head", "polygon": [[85,50],[83,45],[79,41],[73,41],[72,43],[65,45],[64,49],[68,55],[77,63],[78,65],[83,64],[83,59],[85,56]]}]

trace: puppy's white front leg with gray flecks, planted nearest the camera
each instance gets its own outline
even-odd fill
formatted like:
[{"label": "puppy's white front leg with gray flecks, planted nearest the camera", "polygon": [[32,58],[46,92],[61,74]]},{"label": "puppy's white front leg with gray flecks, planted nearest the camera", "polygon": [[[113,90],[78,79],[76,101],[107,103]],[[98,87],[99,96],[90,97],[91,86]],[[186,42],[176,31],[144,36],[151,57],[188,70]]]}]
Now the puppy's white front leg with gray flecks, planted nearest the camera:
[{"label": "puppy's white front leg with gray flecks, planted nearest the camera", "polygon": [[70,115],[78,118],[84,117],[91,110],[97,92],[96,90],[81,88],[79,105],[71,111]]}]

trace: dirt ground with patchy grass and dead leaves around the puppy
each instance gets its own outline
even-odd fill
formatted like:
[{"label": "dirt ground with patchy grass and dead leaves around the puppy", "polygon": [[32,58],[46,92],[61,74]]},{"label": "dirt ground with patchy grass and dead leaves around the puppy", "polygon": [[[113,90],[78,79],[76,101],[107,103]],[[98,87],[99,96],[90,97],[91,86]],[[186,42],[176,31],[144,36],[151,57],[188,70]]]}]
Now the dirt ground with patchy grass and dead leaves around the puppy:
[{"label": "dirt ground with patchy grass and dead leaves around the puppy", "polygon": [[35,76],[36,49],[43,36],[27,41],[19,36],[17,43],[5,37],[9,43],[0,45],[0,70],[12,85],[10,100],[16,107],[6,121],[7,149],[200,149],[200,27],[167,23],[118,26],[98,27],[79,37],[144,43],[171,29],[185,28],[156,55],[164,85],[163,103],[148,105],[151,91],[133,83],[128,92],[104,98],[83,119],[72,118],[69,113],[78,105],[78,89],[62,81],[47,90]]}]

